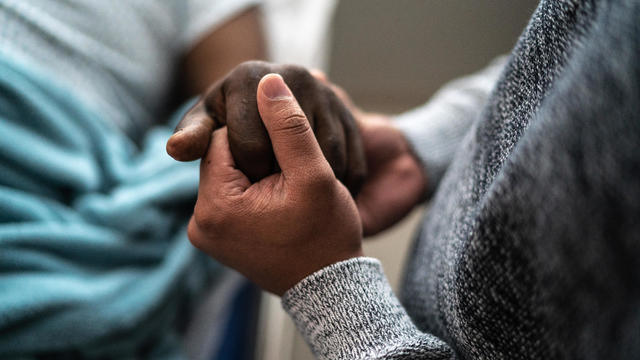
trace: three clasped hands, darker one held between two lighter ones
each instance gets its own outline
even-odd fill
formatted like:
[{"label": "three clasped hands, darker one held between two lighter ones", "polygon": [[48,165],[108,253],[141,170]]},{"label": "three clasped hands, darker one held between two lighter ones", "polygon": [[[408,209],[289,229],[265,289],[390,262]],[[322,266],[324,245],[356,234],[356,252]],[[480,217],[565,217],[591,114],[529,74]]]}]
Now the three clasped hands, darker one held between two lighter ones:
[{"label": "three clasped hands, darker one held between two lighter ones", "polygon": [[341,89],[298,67],[240,65],[176,130],[169,154],[202,158],[189,239],[276,294],[361,256],[363,231],[391,226],[426,187],[385,117],[361,112]]}]

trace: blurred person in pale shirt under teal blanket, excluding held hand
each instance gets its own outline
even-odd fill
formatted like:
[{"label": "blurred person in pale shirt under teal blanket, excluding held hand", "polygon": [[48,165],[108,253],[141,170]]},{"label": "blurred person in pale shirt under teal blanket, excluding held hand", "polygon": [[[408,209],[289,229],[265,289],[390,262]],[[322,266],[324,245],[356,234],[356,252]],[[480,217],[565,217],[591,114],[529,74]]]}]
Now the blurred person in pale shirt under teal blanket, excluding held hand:
[{"label": "blurred person in pale shirt under teal blanket, excluding held hand", "polygon": [[262,57],[256,3],[0,2],[0,358],[185,356],[220,266],[164,144],[176,103]]}]

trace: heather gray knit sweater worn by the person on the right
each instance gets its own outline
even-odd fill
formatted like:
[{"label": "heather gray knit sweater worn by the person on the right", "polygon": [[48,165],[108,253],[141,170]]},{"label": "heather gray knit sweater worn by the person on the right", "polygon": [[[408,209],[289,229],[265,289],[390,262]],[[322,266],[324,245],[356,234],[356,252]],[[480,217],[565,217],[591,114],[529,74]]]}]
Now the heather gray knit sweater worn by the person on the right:
[{"label": "heather gray knit sweater worn by the person on the right", "polygon": [[484,106],[400,119],[443,174],[402,305],[373,259],[307,277],[283,306],[314,353],[640,358],[639,55],[639,1],[543,0]]}]

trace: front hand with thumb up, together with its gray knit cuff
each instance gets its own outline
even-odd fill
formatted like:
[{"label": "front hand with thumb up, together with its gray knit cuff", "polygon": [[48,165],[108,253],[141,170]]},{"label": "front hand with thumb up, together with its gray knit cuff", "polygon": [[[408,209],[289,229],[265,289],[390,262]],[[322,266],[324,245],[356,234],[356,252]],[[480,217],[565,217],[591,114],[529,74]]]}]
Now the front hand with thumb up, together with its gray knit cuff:
[{"label": "front hand with thumb up, together with its gray knit cuff", "polygon": [[411,323],[379,263],[362,257],[355,202],[281,77],[262,78],[257,105],[281,172],[252,184],[235,165],[227,128],[215,131],[201,162],[192,244],[284,294],[321,359],[450,358],[446,344]]}]

